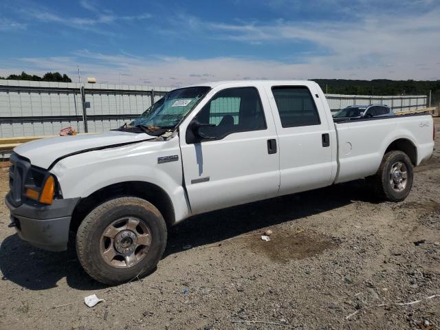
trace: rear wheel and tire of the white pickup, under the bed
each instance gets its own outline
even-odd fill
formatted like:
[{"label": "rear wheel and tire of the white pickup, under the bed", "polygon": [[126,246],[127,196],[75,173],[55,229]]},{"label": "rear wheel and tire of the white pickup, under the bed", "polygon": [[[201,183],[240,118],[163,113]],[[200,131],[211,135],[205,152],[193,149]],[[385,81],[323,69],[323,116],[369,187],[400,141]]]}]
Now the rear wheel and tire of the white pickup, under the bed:
[{"label": "rear wheel and tire of the white pickup, under the bed", "polygon": [[[414,170],[408,155],[402,151],[389,151],[369,181],[380,199],[403,201],[411,191],[413,178]],[[399,180],[403,181],[399,183]]]}]

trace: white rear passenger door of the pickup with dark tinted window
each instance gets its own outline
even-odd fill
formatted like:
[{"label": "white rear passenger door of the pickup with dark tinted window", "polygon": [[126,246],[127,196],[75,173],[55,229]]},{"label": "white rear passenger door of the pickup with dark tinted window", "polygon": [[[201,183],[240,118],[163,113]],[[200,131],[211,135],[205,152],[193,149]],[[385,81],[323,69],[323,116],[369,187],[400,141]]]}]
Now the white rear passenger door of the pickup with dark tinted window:
[{"label": "white rear passenger door of the pickup with dark tinted window", "polygon": [[280,195],[331,184],[337,142],[322,105],[325,100],[319,97],[323,94],[314,84],[272,85],[267,94],[280,146]]}]

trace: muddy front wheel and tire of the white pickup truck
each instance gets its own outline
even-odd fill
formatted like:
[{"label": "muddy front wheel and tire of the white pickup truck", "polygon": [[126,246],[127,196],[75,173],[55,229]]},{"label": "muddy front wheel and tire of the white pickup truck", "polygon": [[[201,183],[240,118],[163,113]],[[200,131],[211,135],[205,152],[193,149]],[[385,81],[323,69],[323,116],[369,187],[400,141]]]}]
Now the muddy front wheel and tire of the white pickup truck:
[{"label": "muddy front wheel and tire of the white pickup truck", "polygon": [[153,204],[120,197],[85,217],[76,235],[76,253],[89,276],[117,285],[152,272],[164,253],[166,236],[164,218]]}]

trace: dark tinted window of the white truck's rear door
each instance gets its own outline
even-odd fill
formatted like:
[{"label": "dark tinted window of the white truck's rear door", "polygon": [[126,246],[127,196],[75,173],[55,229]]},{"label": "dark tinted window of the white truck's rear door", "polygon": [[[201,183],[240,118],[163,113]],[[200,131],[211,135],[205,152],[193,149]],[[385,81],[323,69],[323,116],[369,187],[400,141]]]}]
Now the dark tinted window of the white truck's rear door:
[{"label": "dark tinted window of the white truck's rear door", "polygon": [[320,118],[313,96],[304,86],[272,87],[283,127],[319,125]]}]

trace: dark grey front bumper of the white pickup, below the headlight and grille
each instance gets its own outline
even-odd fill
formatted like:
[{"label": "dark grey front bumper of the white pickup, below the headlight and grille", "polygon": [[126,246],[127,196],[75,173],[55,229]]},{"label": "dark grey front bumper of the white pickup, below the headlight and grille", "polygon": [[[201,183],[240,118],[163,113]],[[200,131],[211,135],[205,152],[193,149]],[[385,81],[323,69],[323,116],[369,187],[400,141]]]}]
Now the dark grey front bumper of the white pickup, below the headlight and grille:
[{"label": "dark grey front bumper of the white pickup, below the headlight and grille", "polygon": [[12,225],[23,241],[44,250],[67,250],[70,220],[79,198],[54,199],[51,205],[25,201],[17,207],[11,199],[10,194],[6,195],[5,203],[11,212]]}]

